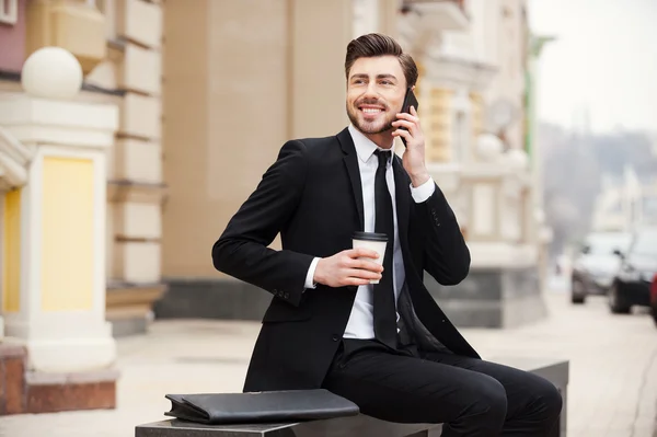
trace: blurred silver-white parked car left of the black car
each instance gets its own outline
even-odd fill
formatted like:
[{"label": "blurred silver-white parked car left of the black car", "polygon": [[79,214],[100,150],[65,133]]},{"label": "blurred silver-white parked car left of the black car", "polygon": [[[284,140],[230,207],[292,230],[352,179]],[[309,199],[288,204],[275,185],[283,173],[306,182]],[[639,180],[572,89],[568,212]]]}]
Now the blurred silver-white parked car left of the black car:
[{"label": "blurred silver-white parked car left of the black car", "polygon": [[570,273],[573,303],[584,303],[589,295],[607,295],[621,266],[616,253],[624,253],[631,241],[630,232],[591,232],[586,237]]}]

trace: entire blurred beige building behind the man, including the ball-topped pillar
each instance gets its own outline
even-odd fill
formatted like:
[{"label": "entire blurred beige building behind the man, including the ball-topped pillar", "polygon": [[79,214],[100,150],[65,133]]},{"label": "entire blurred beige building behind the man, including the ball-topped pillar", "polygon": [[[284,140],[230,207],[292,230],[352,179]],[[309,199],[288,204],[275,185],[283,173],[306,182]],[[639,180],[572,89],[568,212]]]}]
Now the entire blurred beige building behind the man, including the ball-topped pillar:
[{"label": "entire blurred beige building behind the man, including the ball-topped pillar", "polygon": [[113,402],[113,336],[261,318],[270,296],[211,245],[287,139],[346,126],[345,48],[369,32],[419,65],[430,171],[472,252],[433,295],[462,326],[544,315],[546,39],[525,0],[5,0],[0,21],[4,342],[33,382],[93,370]]}]

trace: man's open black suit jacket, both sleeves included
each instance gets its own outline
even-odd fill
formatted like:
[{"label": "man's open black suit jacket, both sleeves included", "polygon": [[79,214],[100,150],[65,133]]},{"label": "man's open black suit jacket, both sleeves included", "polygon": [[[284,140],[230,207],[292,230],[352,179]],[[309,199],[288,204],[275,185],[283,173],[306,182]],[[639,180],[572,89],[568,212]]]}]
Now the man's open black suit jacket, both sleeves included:
[{"label": "man's open black suit jacket, both sleeves included", "polygon": [[[337,136],[291,140],[280,149],[212,246],[215,267],[274,295],[263,318],[244,391],[319,388],[345,331],[357,287],[319,285],[304,292],[314,256],[351,248],[364,229],[356,149],[348,129]],[[479,355],[423,284],[428,272],[443,285],[461,281],[470,252],[442,192],[417,204],[395,157],[399,234],[406,285],[417,318],[456,354]],[[283,249],[267,248],[280,232]]]}]

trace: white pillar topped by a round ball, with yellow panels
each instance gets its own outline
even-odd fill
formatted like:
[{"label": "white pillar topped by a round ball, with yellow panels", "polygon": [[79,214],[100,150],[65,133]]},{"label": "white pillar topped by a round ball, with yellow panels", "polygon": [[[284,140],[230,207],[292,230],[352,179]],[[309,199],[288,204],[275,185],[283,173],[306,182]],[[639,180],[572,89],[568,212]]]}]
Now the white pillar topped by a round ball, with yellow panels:
[{"label": "white pillar topped by a round ball, with yellow panels", "polygon": [[25,94],[0,100],[0,126],[21,145],[27,172],[2,203],[4,342],[27,350],[25,412],[114,407],[105,153],[117,108],[74,101],[82,70],[59,47],[35,51],[22,80]]}]

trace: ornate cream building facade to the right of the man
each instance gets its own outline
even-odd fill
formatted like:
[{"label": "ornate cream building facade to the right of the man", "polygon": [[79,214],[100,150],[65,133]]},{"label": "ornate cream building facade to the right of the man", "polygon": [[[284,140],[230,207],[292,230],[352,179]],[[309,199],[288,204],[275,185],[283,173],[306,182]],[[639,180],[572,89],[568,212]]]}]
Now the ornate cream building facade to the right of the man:
[{"label": "ornate cream building facade to the right of the man", "polygon": [[401,32],[406,44],[415,42],[410,47],[427,42],[420,116],[430,127],[430,168],[472,254],[462,284],[440,287],[428,278],[427,285],[458,325],[522,324],[545,315],[546,250],[539,166],[527,145],[532,103],[527,4],[471,0],[464,7],[461,28],[423,38],[408,23]]}]

